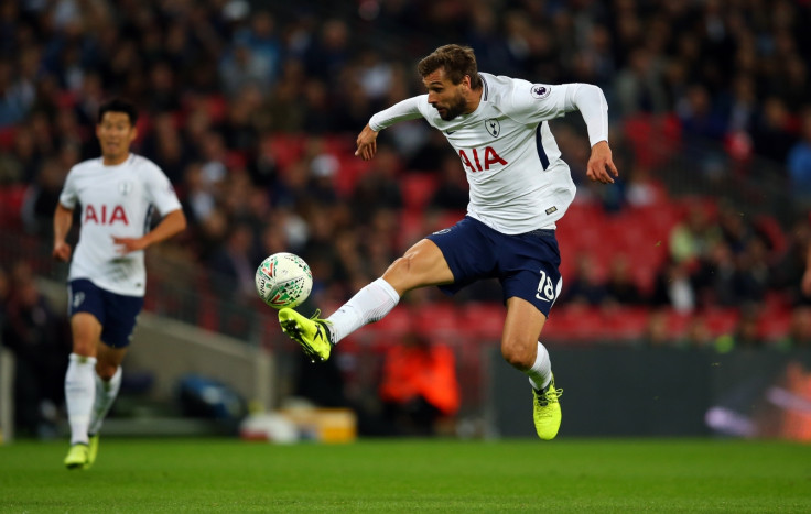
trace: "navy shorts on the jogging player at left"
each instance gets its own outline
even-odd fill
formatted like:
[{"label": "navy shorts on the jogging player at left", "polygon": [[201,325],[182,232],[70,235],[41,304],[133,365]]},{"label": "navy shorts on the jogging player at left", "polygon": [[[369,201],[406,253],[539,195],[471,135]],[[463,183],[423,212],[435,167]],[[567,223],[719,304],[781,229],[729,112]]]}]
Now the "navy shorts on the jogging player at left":
[{"label": "navy shorts on the jogging player at left", "polygon": [[67,300],[68,316],[89,313],[99,320],[105,345],[112,348],[129,346],[136,319],[143,308],[142,296],[117,295],[87,278],[76,278],[67,284]]}]

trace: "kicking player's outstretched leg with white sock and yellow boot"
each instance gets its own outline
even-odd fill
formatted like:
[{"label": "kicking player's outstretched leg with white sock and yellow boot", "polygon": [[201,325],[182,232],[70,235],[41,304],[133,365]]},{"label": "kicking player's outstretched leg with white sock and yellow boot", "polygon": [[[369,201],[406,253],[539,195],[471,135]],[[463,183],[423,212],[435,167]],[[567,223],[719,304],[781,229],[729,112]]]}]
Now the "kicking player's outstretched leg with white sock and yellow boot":
[{"label": "kicking player's outstretched leg with white sock and yellow boot", "polygon": [[407,291],[451,282],[453,273],[442,251],[434,242],[423,239],[397,259],[383,276],[361,288],[327,319],[318,318],[320,313],[307,319],[286,308],[279,310],[279,321],[282,330],[309,356],[326,360],[333,345],[389,314]]}]

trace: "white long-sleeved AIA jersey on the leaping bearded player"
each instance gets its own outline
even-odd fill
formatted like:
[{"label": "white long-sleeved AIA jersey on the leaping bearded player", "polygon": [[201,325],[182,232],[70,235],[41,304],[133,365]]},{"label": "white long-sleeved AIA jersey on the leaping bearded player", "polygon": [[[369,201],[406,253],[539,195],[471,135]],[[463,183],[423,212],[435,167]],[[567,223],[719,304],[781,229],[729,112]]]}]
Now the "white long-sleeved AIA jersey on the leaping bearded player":
[{"label": "white long-sleeved AIA jersey on the leaping bearded player", "polygon": [[580,110],[592,145],[608,141],[605,96],[587,84],[551,86],[486,73],[479,76],[482,101],[469,114],[445,121],[428,102],[428,95],[421,95],[372,116],[369,127],[380,131],[424,118],[442,131],[462,160],[471,187],[471,217],[508,234],[555,228],[576,188],[547,120]]}]

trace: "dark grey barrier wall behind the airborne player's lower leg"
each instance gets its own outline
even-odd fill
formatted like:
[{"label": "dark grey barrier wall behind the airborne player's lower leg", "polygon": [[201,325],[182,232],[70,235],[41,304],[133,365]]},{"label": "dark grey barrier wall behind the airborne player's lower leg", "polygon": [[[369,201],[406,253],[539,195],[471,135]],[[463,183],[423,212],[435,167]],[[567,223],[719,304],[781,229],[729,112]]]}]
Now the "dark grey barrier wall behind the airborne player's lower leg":
[{"label": "dark grey barrier wall behind the airborne player's lower leg", "polygon": [[[564,391],[560,436],[811,437],[811,349],[586,347],[550,356]],[[488,360],[491,434],[534,437],[527,378],[498,349]]]}]

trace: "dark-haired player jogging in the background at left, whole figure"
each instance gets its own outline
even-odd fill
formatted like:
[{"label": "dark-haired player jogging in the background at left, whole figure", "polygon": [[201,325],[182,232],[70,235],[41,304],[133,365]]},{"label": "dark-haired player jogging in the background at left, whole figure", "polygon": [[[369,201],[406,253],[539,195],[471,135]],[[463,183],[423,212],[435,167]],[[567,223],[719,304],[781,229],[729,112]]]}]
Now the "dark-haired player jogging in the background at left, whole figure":
[{"label": "dark-haired player jogging in the background at left, whole figure", "polygon": [[[82,206],[67,286],[73,335],[65,374],[68,469],[87,469],[95,461],[101,423],[121,386],[121,361],[143,307],[143,251],[186,227],[166,175],[130,153],[137,118],[134,107],[123,100],[99,108],[96,136],[101,157],[71,169],[54,212],[53,256],[68,261],[72,249],[65,238],[76,204]],[[163,219],[148,231],[152,206]]]}]

